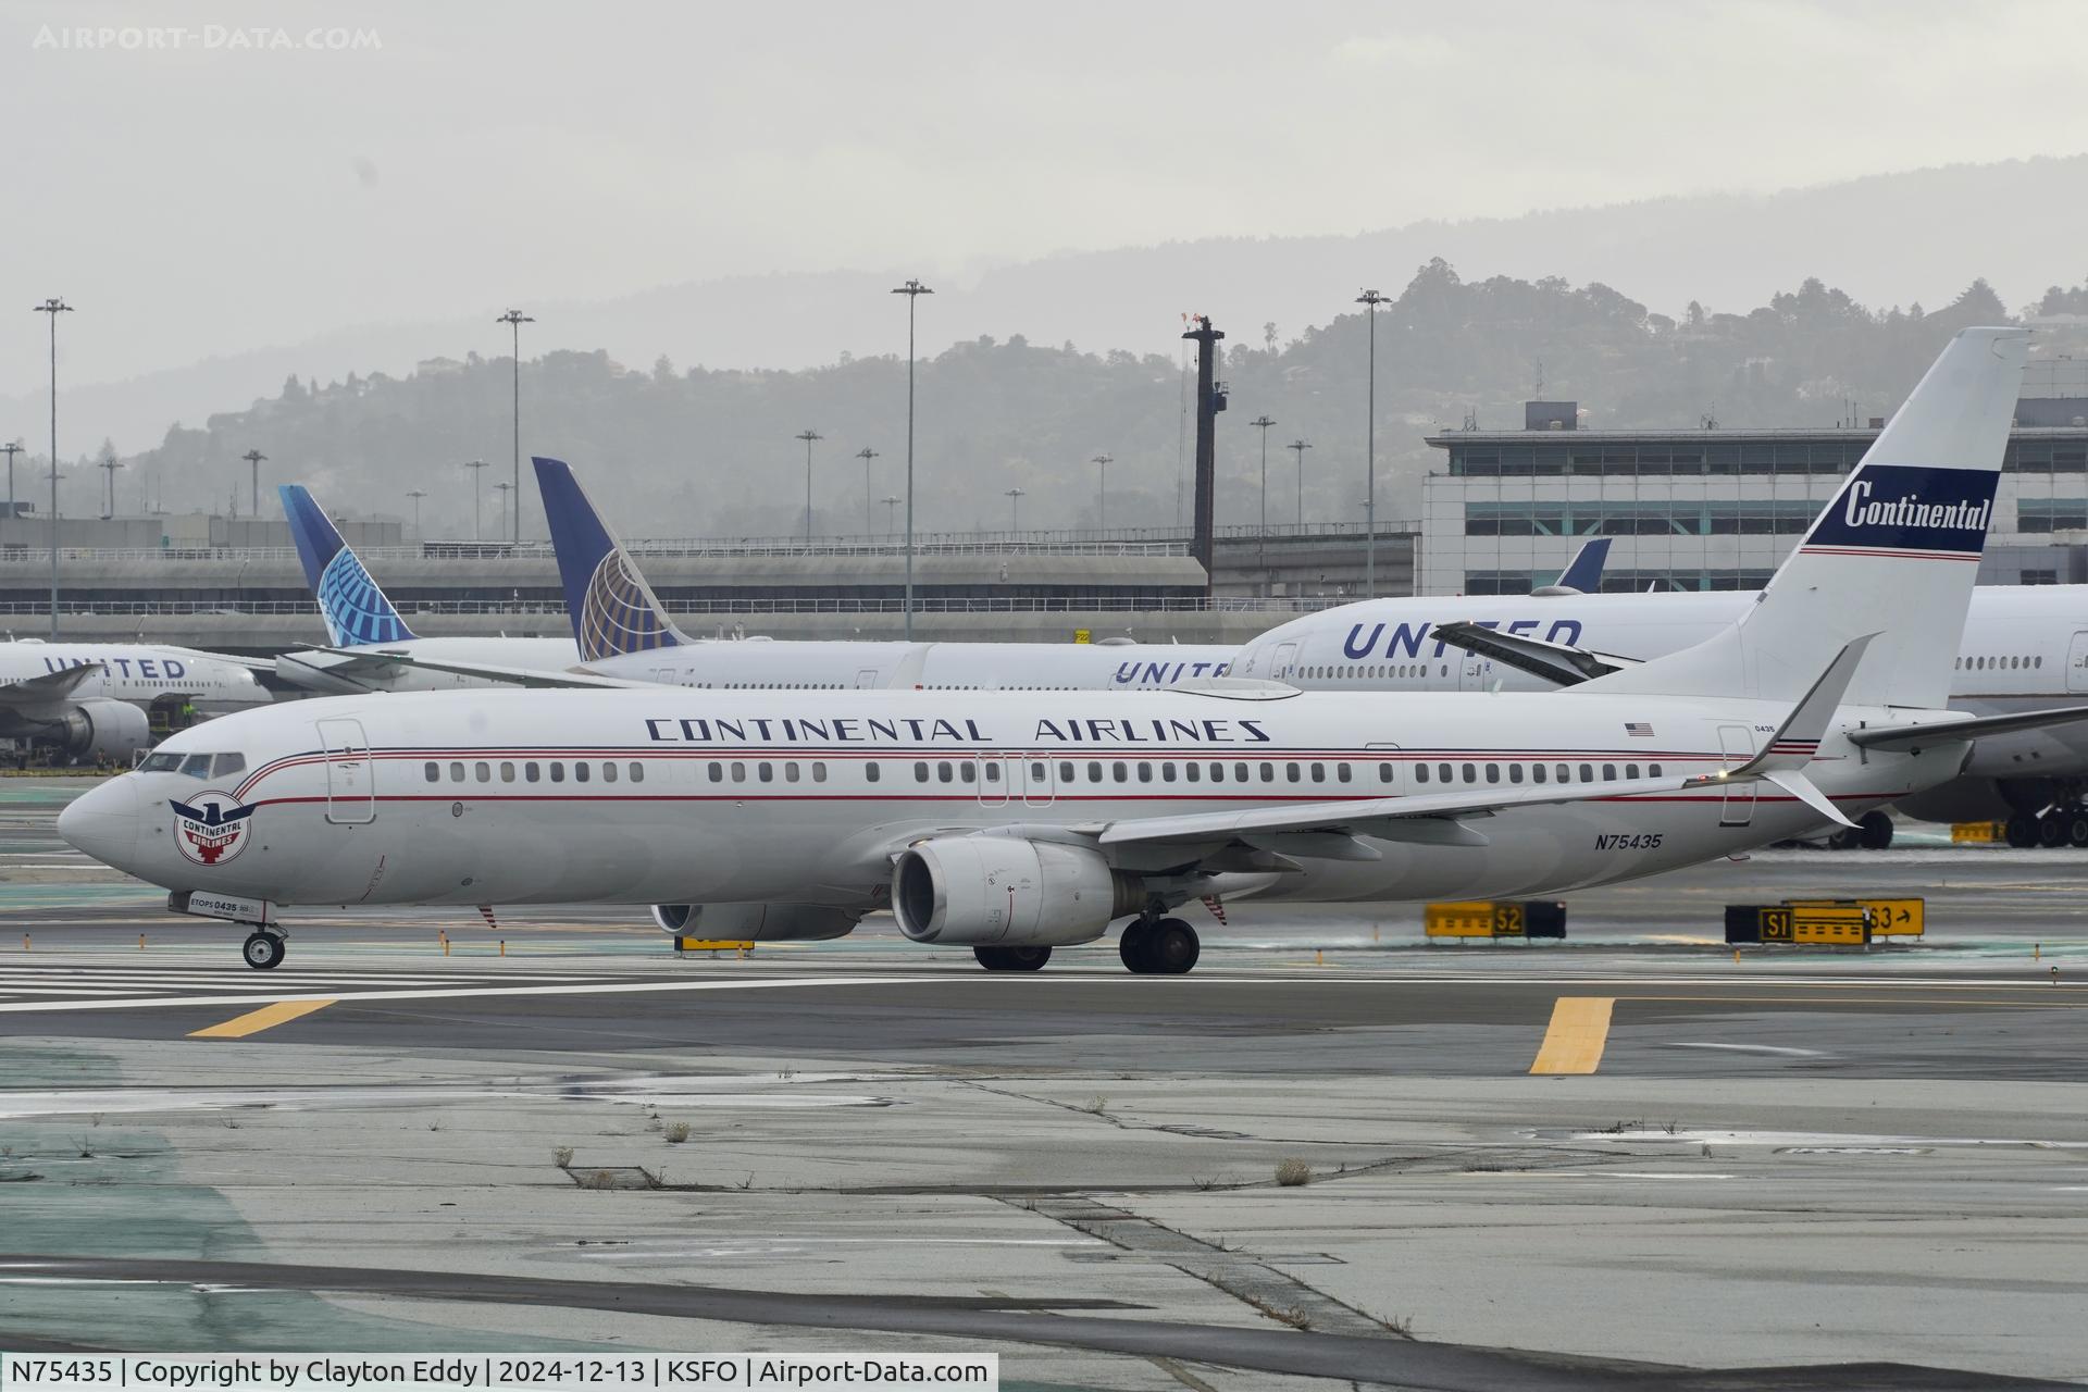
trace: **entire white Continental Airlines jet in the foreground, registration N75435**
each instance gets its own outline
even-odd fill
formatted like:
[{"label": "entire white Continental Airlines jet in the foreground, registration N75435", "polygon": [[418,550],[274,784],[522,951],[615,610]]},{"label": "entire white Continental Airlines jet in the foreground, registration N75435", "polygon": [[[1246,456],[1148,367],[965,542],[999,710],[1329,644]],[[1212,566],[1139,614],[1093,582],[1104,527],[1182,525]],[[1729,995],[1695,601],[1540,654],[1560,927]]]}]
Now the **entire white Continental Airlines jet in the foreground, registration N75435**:
[{"label": "entire white Continental Airlines jet in the foreground, registration N75435", "polygon": [[[775,939],[889,906],[1002,970],[1130,920],[1123,962],[1180,973],[1190,899],[1672,870],[2088,716],[1944,710],[2023,357],[2021,330],[1959,334],[1739,622],[1556,693],[338,697],[182,735],[58,831],[248,925],[255,966],[282,958],[284,906],[618,902]],[[203,753],[240,766],[184,772]]]}]

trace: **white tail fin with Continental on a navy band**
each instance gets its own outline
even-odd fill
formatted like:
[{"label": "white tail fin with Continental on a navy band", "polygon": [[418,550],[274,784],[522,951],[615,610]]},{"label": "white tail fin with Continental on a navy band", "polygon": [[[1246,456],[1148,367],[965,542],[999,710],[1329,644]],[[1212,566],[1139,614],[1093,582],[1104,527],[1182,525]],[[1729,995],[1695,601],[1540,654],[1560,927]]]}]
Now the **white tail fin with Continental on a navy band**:
[{"label": "white tail fin with Continental on a navy band", "polygon": [[1946,705],[2027,338],[1961,330],[1731,628],[1572,691],[1796,701],[1875,632],[1846,699]]}]

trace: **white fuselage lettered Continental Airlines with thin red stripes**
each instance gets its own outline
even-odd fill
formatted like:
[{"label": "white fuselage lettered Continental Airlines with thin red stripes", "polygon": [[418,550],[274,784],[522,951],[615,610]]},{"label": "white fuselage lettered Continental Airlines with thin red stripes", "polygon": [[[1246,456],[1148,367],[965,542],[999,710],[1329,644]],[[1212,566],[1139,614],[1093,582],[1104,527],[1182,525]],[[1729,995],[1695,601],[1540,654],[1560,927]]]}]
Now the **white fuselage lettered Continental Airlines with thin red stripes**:
[{"label": "white fuselage lettered Continental Airlines with thin red stripes", "polygon": [[[73,803],[61,829],[169,889],[278,904],[873,908],[892,856],[938,833],[1086,835],[1178,812],[1704,774],[1743,762],[1787,714],[1773,701],[1570,693],[342,697],[169,741],[163,751],[242,755],[240,772],[211,783],[125,774]],[[1844,710],[1837,720],[1867,714],[1879,716]],[[1808,772],[1844,812],[1860,812],[1950,776],[1961,758],[1963,745],[1862,755],[1829,733]],[[196,803],[207,789],[251,808],[209,866],[177,849],[167,806]],[[1472,822],[1487,845],[1370,839],[1376,860],[1303,860],[1303,870],[1228,889],[1315,899],[1558,893],[1817,824],[1814,812],[1752,785],[1516,808]],[[1203,854],[1105,849],[1138,870]]]}]

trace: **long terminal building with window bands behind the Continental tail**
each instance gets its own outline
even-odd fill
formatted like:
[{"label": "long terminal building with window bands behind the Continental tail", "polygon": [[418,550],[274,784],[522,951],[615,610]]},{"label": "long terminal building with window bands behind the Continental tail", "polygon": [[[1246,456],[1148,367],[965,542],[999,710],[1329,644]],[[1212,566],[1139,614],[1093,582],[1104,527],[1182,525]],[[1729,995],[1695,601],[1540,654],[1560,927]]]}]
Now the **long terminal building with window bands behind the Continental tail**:
[{"label": "long terminal building with window bands behind the Continental tail", "polygon": [[[1581,430],[1572,401],[1524,403],[1522,430],[1426,436],[1416,593],[1518,595],[1610,536],[1608,591],[1758,589],[1883,419],[1827,430]],[[2088,399],[2023,399],[1996,493],[1984,584],[2088,580]]]}]

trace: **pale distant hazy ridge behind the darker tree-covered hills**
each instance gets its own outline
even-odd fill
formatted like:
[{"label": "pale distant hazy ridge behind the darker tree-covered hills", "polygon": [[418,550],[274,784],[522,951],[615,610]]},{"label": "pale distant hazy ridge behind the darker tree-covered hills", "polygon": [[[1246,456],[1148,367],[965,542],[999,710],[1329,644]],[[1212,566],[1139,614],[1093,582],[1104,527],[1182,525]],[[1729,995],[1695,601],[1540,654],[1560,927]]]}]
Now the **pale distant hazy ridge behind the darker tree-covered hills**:
[{"label": "pale distant hazy ridge behind the darker tree-covered hills", "polygon": [[[1679,171],[1679,182],[1714,171]],[[1558,205],[1572,190],[1543,190]],[[1107,209],[1098,221],[1107,223]],[[1270,221],[1286,211],[1272,209]],[[1654,311],[1681,315],[1762,305],[1819,275],[1867,305],[1940,305],[1988,275],[2011,305],[2080,278],[2078,227],[2088,221],[2088,154],[1883,173],[1769,196],[1702,194],[1460,223],[1422,221],[1355,236],[1196,238],[1069,253],[990,269],[971,284],[940,282],[921,301],[921,346],[940,353],[981,334],[1173,355],[1180,315],[1209,313],[1232,342],[1261,342],[1263,323],[1288,340],[1343,311],[1359,286],[1386,292],[1443,257],[1466,275],[1562,275],[1627,286]],[[691,267],[697,269],[697,267]],[[668,355],[714,367],[808,367],[904,349],[904,303],[887,290],[917,267],[825,275],[693,278],[587,305],[530,303],[539,317],[524,355],[606,349],[626,363]],[[430,319],[332,330],[299,344],[217,357],[129,382],[63,392],[71,440],[113,436],[123,449],[159,440],[169,422],[196,424],[263,394],[284,376],[322,382],[349,371],[409,371],[430,357],[505,351],[501,307]],[[1489,384],[1491,386],[1491,384]],[[1503,384],[1510,386],[1510,384]],[[1514,386],[1526,386],[1522,382]],[[35,390],[0,397],[0,419],[33,442]],[[499,438],[476,442],[495,453]],[[71,453],[71,449],[67,449]]]}]

